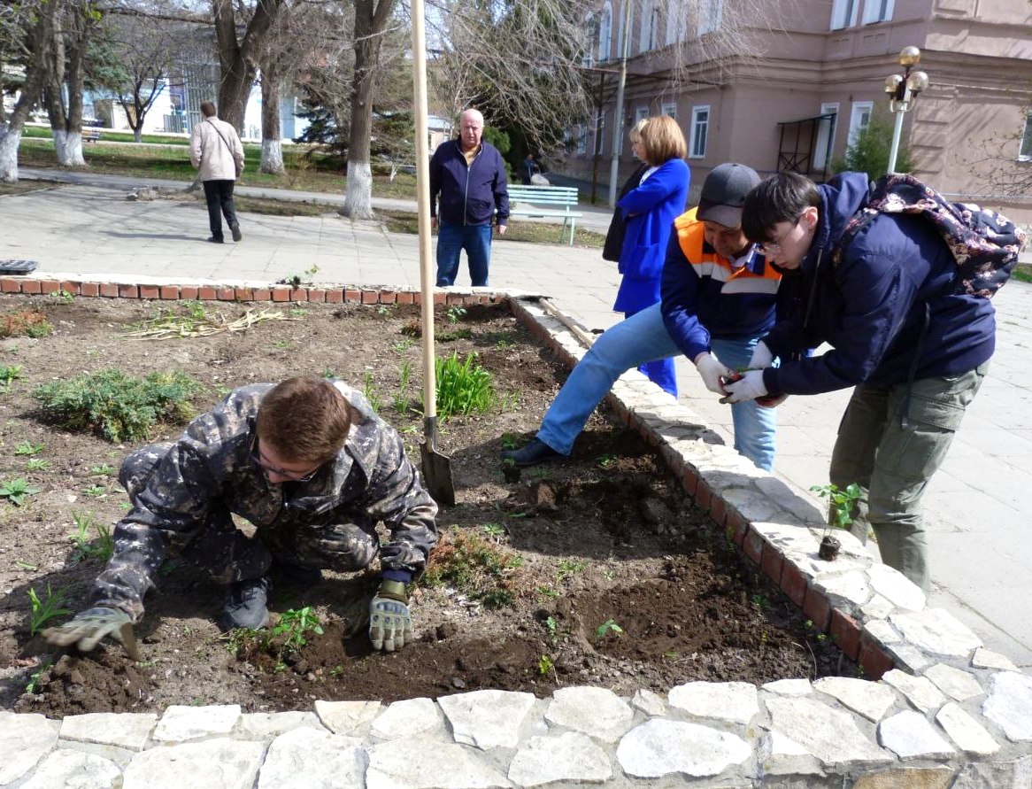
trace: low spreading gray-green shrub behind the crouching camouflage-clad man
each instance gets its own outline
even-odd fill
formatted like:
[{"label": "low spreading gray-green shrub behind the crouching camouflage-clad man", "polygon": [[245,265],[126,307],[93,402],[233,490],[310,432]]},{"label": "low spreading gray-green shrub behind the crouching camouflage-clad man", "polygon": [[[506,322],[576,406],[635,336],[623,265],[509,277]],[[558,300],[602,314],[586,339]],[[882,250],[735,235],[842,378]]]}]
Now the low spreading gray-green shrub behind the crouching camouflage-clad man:
[{"label": "low spreading gray-green shrub behind the crouching camouflage-clad man", "polygon": [[68,381],[37,386],[45,418],[73,431],[92,430],[111,442],[148,437],[159,420],[176,422],[194,415],[188,399],[200,384],[183,373],[151,373],[134,378],[102,370]]}]

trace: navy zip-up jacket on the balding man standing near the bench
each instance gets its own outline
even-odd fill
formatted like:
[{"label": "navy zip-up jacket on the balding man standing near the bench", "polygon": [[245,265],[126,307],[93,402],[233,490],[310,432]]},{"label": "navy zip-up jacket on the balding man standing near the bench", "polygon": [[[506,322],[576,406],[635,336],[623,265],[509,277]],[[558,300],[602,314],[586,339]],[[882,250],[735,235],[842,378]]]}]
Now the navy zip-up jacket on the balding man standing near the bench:
[{"label": "navy zip-up jacket on the balding man standing near the bench", "polygon": [[458,140],[438,146],[430,157],[430,216],[450,225],[489,225],[495,209],[497,223],[507,224],[509,189],[498,149],[482,141],[473,164],[467,165]]}]

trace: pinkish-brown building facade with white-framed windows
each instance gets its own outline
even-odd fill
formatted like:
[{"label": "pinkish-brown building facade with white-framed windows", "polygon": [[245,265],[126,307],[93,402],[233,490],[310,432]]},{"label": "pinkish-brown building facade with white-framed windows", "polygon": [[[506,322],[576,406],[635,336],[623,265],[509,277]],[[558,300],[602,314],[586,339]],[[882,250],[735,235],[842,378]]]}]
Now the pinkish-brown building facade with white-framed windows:
[{"label": "pinkish-brown building facade with white-framed windows", "polygon": [[[954,199],[1032,224],[1028,0],[628,2],[607,0],[589,20],[585,65],[611,87],[571,130],[569,175],[608,182],[627,17],[621,129],[649,115],[675,117],[688,140],[692,198],[723,161],[830,178],[875,114],[891,118],[884,80],[902,72],[900,51],[916,45],[930,85],[905,115],[914,173]],[[633,162],[625,134],[620,144],[622,178]]]}]

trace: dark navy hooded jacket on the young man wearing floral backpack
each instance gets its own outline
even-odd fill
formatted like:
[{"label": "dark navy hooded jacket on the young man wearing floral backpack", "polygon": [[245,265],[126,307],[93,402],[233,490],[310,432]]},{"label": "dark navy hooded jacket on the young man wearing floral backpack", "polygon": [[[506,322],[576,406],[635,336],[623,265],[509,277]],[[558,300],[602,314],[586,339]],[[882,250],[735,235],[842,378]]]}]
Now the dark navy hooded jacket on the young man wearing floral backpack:
[{"label": "dark navy hooded jacket on the young man wearing floral backpack", "polygon": [[993,305],[956,292],[957,263],[931,222],[879,214],[835,264],[846,222],[868,200],[869,181],[865,173],[844,172],[818,189],[820,218],[799,269],[806,309],[801,320],[779,321],[764,342],[782,359],[824,342],[832,350],[768,368],[768,392],[905,383],[914,360],[915,379],[959,375],[993,355]]}]

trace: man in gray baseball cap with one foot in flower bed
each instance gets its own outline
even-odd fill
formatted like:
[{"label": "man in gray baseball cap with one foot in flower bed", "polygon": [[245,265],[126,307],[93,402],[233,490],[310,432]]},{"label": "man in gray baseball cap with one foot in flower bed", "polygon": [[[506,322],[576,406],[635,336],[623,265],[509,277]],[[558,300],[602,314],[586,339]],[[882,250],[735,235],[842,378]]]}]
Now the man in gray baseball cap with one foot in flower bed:
[{"label": "man in gray baseball cap with one foot in flower bed", "polygon": [[[662,303],[601,335],[552,401],[537,437],[520,449],[504,451],[504,460],[535,466],[569,455],[616,379],[645,361],[683,353],[706,388],[725,394],[720,378],[729,368],[748,365],[781,302],[780,275],[741,228],[745,195],[759,183],[756,171],[744,164],[721,164],[707,176],[698,208],[674,221]],[[756,401],[748,405],[732,407],[735,448],[770,471],[775,410]]]}]

